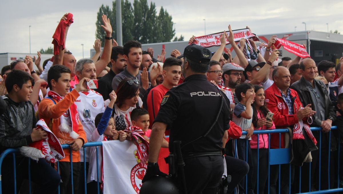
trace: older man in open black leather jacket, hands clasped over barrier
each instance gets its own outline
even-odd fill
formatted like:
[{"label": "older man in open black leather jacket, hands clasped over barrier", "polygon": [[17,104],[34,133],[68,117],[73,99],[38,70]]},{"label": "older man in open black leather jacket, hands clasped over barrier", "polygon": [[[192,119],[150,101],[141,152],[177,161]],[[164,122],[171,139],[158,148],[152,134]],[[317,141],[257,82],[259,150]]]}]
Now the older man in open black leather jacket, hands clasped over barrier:
[{"label": "older man in open black leather jacket, hands clasped over barrier", "polygon": [[[336,118],[336,113],[334,106],[329,98],[328,91],[326,86],[323,82],[318,81],[315,79],[316,77],[316,63],[313,59],[306,58],[300,62],[300,72],[303,74],[303,77],[292,84],[291,88],[297,91],[301,103],[303,105],[311,104],[312,110],[316,111],[316,113],[312,116],[312,124],[311,127],[321,127],[322,132],[314,131],[313,135],[316,139],[320,139],[321,134],[321,141],[318,141],[317,147],[321,146],[321,164],[319,164],[319,151],[312,151],[312,163],[311,163],[311,191],[318,190],[318,184],[316,185],[316,180],[328,180],[328,170],[327,168],[321,168],[321,177],[319,176],[319,165],[322,167],[328,166],[328,153],[329,153],[329,144],[330,144],[330,136],[329,132],[331,129],[332,122]],[[332,155],[331,155],[332,156]],[[330,160],[332,162],[332,160]],[[308,168],[304,168],[308,169]],[[331,170],[330,170],[331,171]],[[331,172],[330,172],[331,173]],[[333,173],[331,173],[333,174]],[[330,179],[332,184],[332,180]],[[304,180],[304,181],[308,181]],[[302,187],[307,187],[308,184],[303,182],[301,183]],[[333,185],[331,185],[332,187]],[[322,181],[320,185],[320,189],[325,190],[329,189],[328,181]],[[304,191],[309,191],[309,189],[304,189]]]}]

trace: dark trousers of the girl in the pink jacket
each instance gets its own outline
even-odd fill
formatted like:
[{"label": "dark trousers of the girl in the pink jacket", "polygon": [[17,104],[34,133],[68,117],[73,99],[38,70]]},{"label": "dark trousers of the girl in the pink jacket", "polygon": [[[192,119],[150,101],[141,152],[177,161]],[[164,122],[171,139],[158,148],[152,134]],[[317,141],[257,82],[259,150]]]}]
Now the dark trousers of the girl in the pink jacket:
[{"label": "dark trousers of the girl in the pink jacket", "polygon": [[[257,158],[257,152],[259,151],[259,157]],[[252,188],[255,193],[263,194],[264,186],[268,179],[268,149],[251,149],[252,163],[254,166],[254,172],[252,176]],[[257,167],[257,161],[259,165]],[[257,169],[259,169],[259,177],[257,179]],[[258,192],[257,192],[257,180],[258,180]]]}]

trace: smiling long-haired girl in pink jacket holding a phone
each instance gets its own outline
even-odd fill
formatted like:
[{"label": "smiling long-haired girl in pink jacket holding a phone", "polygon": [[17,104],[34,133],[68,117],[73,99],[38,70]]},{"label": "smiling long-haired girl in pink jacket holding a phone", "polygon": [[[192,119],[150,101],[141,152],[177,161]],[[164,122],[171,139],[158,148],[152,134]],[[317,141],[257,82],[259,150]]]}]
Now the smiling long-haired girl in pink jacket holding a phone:
[{"label": "smiling long-haired girl in pink jacket holding a phone", "polygon": [[[268,112],[267,106],[264,102],[264,90],[261,86],[255,85],[255,101],[253,102],[252,124],[255,130],[275,129],[272,120],[267,121],[265,117]],[[259,149],[257,149],[257,146]],[[255,186],[255,193],[262,193],[264,185],[268,178],[268,134],[252,135],[250,141],[251,155],[253,162],[252,186]],[[259,153],[259,158],[257,154]],[[259,165],[257,166],[257,162]],[[257,177],[257,169],[259,169],[259,176]],[[259,180],[257,191],[257,180]]]}]

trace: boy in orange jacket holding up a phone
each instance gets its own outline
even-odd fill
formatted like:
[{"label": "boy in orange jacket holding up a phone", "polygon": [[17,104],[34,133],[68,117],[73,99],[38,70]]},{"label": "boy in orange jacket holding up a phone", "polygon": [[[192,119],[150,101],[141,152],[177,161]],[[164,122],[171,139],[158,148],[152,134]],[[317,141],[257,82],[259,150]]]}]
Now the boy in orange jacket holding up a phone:
[{"label": "boy in orange jacket holding up a phone", "polygon": [[[66,157],[59,162],[61,183],[60,193],[70,193],[73,181],[74,193],[78,193],[80,174],[80,153],[82,145],[87,142],[86,134],[79,121],[78,111],[74,102],[80,91],[86,88],[88,78],[83,78],[74,90],[70,88],[70,70],[62,65],[54,65],[48,71],[48,97],[43,99],[38,106],[38,115],[44,119],[56,135],[61,144],[69,144],[72,149],[64,149]],[[71,180],[71,165],[73,167],[73,180]]]}]

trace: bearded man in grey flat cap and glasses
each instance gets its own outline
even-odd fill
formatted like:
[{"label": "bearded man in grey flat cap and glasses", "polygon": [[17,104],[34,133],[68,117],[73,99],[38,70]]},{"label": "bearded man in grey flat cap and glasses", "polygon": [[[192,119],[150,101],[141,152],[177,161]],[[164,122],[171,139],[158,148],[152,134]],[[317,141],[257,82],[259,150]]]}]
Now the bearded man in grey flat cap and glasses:
[{"label": "bearded man in grey flat cap and glasses", "polygon": [[231,90],[234,97],[234,103],[237,104],[239,101],[235,94],[235,88],[236,85],[240,84],[244,68],[234,63],[227,63],[223,66],[222,70],[224,86]]}]

